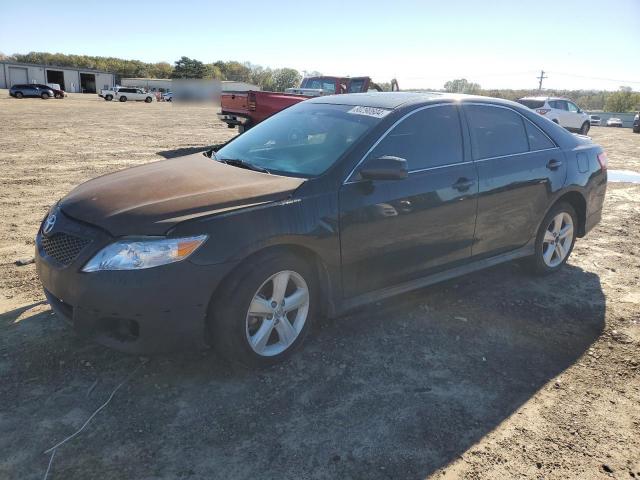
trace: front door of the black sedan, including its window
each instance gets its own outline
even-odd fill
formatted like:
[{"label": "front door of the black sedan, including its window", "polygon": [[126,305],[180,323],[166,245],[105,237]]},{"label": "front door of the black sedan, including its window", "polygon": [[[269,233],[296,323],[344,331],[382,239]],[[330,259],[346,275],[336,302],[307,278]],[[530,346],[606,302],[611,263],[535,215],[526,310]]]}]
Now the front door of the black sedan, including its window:
[{"label": "front door of the black sedan, including its window", "polygon": [[368,159],[407,160],[402,180],[359,180],[340,190],[343,292],[353,297],[467,261],[476,216],[477,174],[455,105],[408,114]]}]

